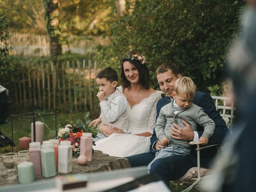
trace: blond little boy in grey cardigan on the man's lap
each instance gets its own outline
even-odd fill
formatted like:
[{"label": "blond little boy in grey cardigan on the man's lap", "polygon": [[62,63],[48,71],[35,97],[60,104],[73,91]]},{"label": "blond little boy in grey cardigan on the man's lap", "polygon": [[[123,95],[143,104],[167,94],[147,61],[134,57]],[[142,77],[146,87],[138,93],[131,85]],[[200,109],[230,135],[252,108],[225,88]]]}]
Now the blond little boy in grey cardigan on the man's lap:
[{"label": "blond little boy in grey cardigan on the man's lap", "polygon": [[199,138],[201,144],[207,144],[208,139],[213,135],[215,124],[212,119],[204,113],[203,109],[193,104],[193,98],[196,93],[196,85],[188,77],[178,78],[174,83],[173,100],[163,106],[156,120],[155,131],[158,140],[167,146],[156,152],[156,157],[148,165],[148,173],[152,163],[159,158],[172,155],[188,155],[190,153],[190,144],[186,141],[175,140],[170,137],[170,128],[172,123],[184,127],[181,120],[190,124],[196,131],[197,125],[204,127],[204,132]]}]

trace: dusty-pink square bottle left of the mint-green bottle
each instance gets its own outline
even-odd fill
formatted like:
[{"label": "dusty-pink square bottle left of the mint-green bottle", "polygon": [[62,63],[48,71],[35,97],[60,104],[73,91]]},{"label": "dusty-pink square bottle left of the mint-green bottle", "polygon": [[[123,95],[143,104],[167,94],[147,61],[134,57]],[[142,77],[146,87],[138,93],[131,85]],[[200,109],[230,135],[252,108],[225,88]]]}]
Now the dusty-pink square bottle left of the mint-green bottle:
[{"label": "dusty-pink square bottle left of the mint-green bottle", "polygon": [[30,162],[34,165],[34,174],[42,175],[41,165],[41,144],[40,142],[32,142],[29,144],[29,158]]}]

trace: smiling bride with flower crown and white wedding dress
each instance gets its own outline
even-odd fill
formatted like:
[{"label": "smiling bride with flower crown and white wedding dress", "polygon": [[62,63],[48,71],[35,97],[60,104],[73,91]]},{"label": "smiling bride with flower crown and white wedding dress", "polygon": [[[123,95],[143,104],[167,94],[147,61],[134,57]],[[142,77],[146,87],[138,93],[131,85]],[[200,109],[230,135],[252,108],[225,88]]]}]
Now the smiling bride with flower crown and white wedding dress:
[{"label": "smiling bride with flower crown and white wedding dress", "polygon": [[118,89],[128,100],[127,130],[130,134],[116,127],[101,125],[99,130],[106,138],[98,140],[93,148],[110,156],[125,157],[149,152],[150,137],[156,122],[156,104],[162,97],[150,87],[144,56],[130,52],[120,64],[122,86]]}]

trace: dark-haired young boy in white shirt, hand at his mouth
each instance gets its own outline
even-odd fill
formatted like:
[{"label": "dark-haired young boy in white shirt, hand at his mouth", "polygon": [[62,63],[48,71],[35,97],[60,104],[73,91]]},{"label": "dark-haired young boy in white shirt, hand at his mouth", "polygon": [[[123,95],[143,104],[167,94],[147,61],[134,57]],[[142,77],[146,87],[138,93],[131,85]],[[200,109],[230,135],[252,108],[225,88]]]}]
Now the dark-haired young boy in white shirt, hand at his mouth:
[{"label": "dark-haired young boy in white shirt, hand at his mouth", "polygon": [[[124,94],[116,88],[118,76],[111,67],[104,68],[96,76],[99,92],[97,97],[100,101],[100,117],[90,122],[89,127],[99,123],[117,127],[127,132],[128,114],[126,107],[128,102]],[[97,135],[94,141],[105,138],[102,133]]]}]

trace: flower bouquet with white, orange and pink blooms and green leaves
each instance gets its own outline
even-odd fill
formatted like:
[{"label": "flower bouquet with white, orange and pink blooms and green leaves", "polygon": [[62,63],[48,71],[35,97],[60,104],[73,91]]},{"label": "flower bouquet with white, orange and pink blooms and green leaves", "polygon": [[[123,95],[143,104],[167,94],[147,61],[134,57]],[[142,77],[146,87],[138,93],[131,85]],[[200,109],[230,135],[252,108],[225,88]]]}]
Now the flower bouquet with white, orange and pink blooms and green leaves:
[{"label": "flower bouquet with white, orange and pink blooms and green leaves", "polygon": [[[88,128],[90,123],[89,112],[86,113],[84,119],[77,119],[76,124],[70,125],[66,124],[67,122],[60,123],[60,128],[58,128],[57,139],[60,141],[68,140],[71,142],[73,148],[73,156],[80,155],[80,138],[83,132],[92,133],[92,137],[96,138],[98,134],[97,126],[92,126]],[[94,142],[93,142],[93,145]]]}]

